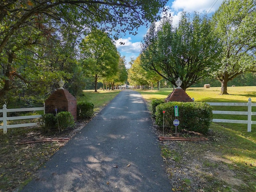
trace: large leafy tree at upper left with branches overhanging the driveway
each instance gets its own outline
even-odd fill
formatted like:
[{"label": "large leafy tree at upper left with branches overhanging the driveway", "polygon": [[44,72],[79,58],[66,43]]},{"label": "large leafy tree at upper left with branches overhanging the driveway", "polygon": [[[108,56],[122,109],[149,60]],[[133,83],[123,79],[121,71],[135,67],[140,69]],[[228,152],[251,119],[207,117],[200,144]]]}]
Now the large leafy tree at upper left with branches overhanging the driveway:
[{"label": "large leafy tree at upper left with branches overhanging the driveway", "polygon": [[[115,38],[120,32],[136,33],[134,29],[159,17],[156,14],[165,3],[165,0],[1,0],[0,98],[17,81],[32,88],[45,84],[46,79],[56,81],[65,76],[55,67],[62,56],[62,61],[67,61],[68,52],[61,57],[57,54],[58,50],[65,50],[66,34],[78,37],[77,32],[92,28],[112,32]],[[33,69],[30,76],[18,72],[24,66]]]}]

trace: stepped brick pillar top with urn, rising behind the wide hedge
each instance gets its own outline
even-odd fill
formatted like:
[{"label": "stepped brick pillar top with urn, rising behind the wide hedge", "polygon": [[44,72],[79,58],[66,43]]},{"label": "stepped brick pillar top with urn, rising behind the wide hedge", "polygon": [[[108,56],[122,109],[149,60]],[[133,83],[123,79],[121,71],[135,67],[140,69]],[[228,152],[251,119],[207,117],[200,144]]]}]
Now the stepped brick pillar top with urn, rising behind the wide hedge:
[{"label": "stepped brick pillar top with urn, rising behind the wide hedge", "polygon": [[180,85],[182,84],[182,81],[180,78],[176,81],[176,85],[178,86],[174,91],[168,95],[168,97],[164,100],[164,102],[170,102],[170,101],[180,101],[180,102],[193,102],[193,100],[186,94],[186,92],[180,88]]}]

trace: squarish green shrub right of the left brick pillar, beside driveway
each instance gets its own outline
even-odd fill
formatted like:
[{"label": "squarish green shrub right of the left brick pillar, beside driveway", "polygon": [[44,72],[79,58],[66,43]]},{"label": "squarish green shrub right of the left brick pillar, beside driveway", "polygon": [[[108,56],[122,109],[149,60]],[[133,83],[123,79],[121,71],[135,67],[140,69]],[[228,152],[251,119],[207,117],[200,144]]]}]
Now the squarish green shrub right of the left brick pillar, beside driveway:
[{"label": "squarish green shrub right of the left brick pillar, beside driveway", "polygon": [[77,103],[77,118],[85,119],[93,116],[94,104],[87,101],[82,101]]}]

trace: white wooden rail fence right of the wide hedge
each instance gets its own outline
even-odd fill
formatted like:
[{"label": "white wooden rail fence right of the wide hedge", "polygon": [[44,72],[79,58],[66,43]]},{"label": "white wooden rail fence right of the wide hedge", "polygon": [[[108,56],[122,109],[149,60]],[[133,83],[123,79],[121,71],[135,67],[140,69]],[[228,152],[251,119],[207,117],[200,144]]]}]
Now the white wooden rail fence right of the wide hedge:
[{"label": "white wooden rail fence right of the wide hedge", "polygon": [[247,120],[231,120],[231,119],[213,119],[212,122],[222,123],[241,123],[247,124],[247,132],[252,131],[252,124],[256,124],[256,121],[252,121],[252,115],[256,115],[256,112],[252,112],[252,106],[256,106],[256,103],[252,103],[252,99],[249,98],[247,103],[211,103],[210,106],[247,106],[247,111],[212,111],[213,114],[227,114],[227,115],[247,115]]}]

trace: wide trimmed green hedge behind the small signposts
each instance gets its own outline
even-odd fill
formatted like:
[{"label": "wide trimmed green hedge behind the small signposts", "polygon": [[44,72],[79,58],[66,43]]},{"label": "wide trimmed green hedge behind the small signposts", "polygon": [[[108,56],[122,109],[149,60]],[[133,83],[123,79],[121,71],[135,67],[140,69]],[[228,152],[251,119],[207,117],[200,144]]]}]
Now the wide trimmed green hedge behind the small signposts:
[{"label": "wide trimmed green hedge behind the small signposts", "polygon": [[177,126],[177,131],[182,129],[188,131],[199,132],[206,134],[212,121],[212,108],[204,102],[168,102],[159,104],[156,107],[156,124],[163,126],[163,111],[164,126],[173,127],[175,119],[174,106],[178,106],[179,116],[177,119],[180,124]]}]

